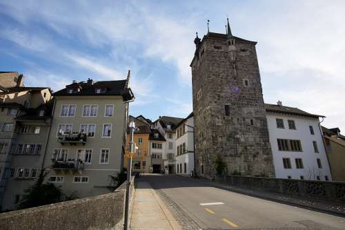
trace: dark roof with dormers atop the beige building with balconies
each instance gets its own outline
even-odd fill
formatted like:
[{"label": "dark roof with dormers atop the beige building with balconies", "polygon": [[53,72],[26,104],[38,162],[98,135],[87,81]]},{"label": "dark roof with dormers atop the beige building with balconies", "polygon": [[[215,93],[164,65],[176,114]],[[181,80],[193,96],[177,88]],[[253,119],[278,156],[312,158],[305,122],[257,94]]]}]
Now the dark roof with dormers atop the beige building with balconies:
[{"label": "dark roof with dormers atop the beige building with balconies", "polygon": [[[92,81],[92,80],[91,80]],[[134,95],[130,88],[126,88],[126,82],[128,80],[118,80],[118,81],[101,81],[101,82],[74,82],[70,85],[67,85],[66,88],[63,88],[55,92],[54,96],[104,96],[104,95],[119,95],[124,97],[124,100],[134,99]],[[75,93],[68,93],[68,88],[80,88],[79,91]],[[96,88],[106,88],[104,93],[96,93]]]}]

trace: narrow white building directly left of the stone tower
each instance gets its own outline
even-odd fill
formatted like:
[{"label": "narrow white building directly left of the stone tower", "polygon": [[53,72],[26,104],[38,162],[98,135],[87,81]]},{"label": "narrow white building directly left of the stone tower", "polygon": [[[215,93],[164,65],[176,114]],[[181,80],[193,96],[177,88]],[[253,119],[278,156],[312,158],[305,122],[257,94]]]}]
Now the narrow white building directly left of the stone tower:
[{"label": "narrow white building directly left of the stone tower", "polygon": [[176,173],[190,175],[194,171],[194,119],[193,113],[183,119],[176,132]]}]

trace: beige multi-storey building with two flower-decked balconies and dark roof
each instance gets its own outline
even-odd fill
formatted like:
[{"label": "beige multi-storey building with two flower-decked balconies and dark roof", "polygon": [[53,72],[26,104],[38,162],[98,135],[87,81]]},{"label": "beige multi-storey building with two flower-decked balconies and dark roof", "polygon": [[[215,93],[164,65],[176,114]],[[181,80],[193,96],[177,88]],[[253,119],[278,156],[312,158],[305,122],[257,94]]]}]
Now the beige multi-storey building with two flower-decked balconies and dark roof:
[{"label": "beige multi-storey building with two flower-decked balconies and dark roof", "polygon": [[123,167],[128,103],[126,80],[73,82],[54,93],[46,180],[79,198],[108,193],[109,175]]}]

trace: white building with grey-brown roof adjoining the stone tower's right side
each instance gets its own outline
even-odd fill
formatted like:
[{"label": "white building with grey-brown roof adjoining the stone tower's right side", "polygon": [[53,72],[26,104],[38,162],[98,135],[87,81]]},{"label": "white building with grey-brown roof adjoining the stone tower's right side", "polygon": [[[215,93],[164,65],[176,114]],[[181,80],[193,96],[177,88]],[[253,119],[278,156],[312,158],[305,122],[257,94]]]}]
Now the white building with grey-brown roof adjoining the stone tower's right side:
[{"label": "white building with grey-brown roof adjoining the stone tower's right side", "polygon": [[320,115],[265,104],[276,178],[332,180],[319,126]]}]

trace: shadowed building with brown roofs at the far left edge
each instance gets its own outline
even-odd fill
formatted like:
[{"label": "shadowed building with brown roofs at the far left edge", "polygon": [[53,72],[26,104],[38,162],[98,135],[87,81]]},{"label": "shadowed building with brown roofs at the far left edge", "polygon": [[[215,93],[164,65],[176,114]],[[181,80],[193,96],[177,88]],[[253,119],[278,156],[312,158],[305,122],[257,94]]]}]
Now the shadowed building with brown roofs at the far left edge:
[{"label": "shadowed building with brown roofs at the far left edge", "polygon": [[[23,87],[23,77],[14,79],[16,76],[21,75],[12,75],[17,86],[1,85],[0,93],[1,210],[14,209],[24,191],[34,184],[42,166],[51,121],[50,89]],[[9,77],[6,82],[10,82]]]}]

